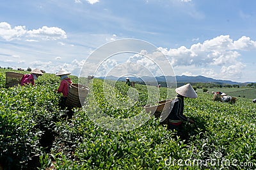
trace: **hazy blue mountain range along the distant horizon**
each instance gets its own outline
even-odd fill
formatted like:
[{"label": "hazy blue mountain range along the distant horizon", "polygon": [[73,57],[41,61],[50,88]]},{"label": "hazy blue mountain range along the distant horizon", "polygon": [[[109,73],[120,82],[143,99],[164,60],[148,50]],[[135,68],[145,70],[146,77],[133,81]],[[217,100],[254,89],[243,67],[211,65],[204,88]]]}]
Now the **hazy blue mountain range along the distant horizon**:
[{"label": "hazy blue mountain range along the distant horizon", "polygon": [[[234,81],[225,81],[225,80],[219,80],[219,79],[212,79],[209,77],[204,77],[202,75],[198,76],[186,76],[186,75],[176,75],[176,81],[177,82],[213,82],[216,84],[247,84],[250,82],[234,82]],[[143,76],[143,77],[129,77],[130,81],[134,82],[166,82],[166,81],[174,81],[173,76],[159,76],[159,77],[148,77],[148,76]],[[126,77],[115,77],[115,76],[108,76],[106,79],[109,80],[115,80],[115,81],[125,81]],[[105,77],[99,77],[99,79],[105,79]]]}]

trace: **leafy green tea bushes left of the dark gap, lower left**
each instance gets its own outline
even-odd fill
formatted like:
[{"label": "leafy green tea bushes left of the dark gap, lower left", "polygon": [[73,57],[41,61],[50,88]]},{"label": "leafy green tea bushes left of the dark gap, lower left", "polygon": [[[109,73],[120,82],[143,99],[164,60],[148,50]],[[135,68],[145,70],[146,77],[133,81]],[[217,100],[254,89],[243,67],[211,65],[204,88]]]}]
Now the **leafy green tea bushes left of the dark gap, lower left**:
[{"label": "leafy green tea bushes left of the dark gap, lower left", "polygon": [[56,87],[36,84],[1,88],[0,164],[25,168],[44,151],[42,136],[61,116]]}]

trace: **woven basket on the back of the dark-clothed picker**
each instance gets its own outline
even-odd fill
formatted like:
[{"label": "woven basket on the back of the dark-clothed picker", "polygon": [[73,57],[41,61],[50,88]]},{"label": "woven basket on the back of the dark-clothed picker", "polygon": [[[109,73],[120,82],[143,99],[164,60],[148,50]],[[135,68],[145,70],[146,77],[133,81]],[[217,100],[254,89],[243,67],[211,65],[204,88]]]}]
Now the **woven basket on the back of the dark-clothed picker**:
[{"label": "woven basket on the back of the dark-clothed picker", "polygon": [[159,118],[161,115],[161,112],[164,109],[164,105],[170,104],[171,102],[172,102],[172,99],[163,100],[158,102],[157,105],[151,105],[151,104],[145,105],[144,109],[146,112],[148,113],[150,112],[151,115],[154,114],[156,118]]}]

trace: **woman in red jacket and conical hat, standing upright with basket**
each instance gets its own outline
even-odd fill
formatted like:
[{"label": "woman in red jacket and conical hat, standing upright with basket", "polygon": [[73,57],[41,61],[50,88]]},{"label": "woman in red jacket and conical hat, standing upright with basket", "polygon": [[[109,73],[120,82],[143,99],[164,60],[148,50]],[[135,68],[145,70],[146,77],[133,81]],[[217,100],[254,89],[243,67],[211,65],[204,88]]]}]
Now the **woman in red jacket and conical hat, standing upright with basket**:
[{"label": "woman in red jacket and conical hat, standing upright with basket", "polygon": [[60,79],[61,79],[60,86],[57,90],[57,93],[62,93],[60,106],[63,108],[63,107],[65,107],[65,103],[66,103],[66,100],[68,97],[69,86],[70,86],[70,84],[72,84],[71,79],[68,77],[68,75],[70,75],[70,72],[67,72],[67,70],[64,70],[62,68],[55,75],[60,76]]}]

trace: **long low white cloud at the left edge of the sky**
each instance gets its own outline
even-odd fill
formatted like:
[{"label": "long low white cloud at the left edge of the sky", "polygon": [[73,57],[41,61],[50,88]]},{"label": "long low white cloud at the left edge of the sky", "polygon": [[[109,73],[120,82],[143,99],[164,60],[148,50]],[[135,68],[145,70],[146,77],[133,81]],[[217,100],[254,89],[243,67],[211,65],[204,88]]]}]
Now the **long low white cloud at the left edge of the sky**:
[{"label": "long low white cloud at the left edge of the sky", "polygon": [[[67,38],[65,31],[59,27],[43,26],[39,29],[26,30],[26,26],[15,26],[12,28],[7,22],[0,22],[0,37],[4,40],[20,40],[22,37],[40,38],[42,40],[58,40]],[[36,40],[26,40],[35,42]]]}]

